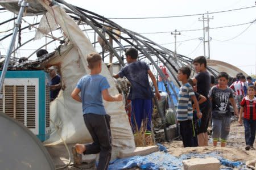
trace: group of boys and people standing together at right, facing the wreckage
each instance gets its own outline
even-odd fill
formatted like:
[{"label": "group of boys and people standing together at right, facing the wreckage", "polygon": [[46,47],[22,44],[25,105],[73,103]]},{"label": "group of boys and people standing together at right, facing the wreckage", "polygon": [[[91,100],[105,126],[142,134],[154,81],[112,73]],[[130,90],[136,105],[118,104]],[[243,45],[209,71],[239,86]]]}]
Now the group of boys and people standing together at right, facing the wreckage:
[{"label": "group of boys and people standing together at right, facing the wreckage", "polygon": [[[208,146],[209,122],[212,122],[213,146],[216,147],[220,141],[221,146],[225,147],[230,131],[232,105],[238,122],[245,127],[245,150],[255,150],[256,83],[253,83],[250,76],[245,78],[242,73],[238,73],[236,79],[229,82],[230,77],[225,72],[218,74],[215,83],[214,77],[207,72],[207,60],[203,56],[195,58],[193,65],[197,75],[189,81],[190,84],[188,78],[191,70],[188,67],[181,67],[177,76],[182,82],[178,96],[177,120],[184,147]],[[201,99],[198,97],[200,95]],[[197,109],[195,97],[200,101],[200,111]]]}]

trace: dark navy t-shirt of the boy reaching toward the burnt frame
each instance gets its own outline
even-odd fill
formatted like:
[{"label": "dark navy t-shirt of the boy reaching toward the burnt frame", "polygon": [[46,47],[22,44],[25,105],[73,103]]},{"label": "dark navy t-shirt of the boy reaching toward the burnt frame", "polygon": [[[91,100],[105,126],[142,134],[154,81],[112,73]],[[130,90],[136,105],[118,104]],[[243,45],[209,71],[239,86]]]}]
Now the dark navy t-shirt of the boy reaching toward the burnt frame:
[{"label": "dark navy t-shirt of the boy reaching toward the burnt frame", "polygon": [[127,99],[152,99],[153,93],[148,81],[148,70],[150,68],[146,62],[136,61],[129,63],[119,71],[119,77],[125,76],[131,83]]}]

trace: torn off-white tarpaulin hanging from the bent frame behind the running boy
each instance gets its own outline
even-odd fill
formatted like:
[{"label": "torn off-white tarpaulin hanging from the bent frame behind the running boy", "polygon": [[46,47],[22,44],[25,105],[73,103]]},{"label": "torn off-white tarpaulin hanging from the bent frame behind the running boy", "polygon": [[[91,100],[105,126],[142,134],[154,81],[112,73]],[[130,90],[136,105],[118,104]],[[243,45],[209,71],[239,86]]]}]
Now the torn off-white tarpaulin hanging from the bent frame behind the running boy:
[{"label": "torn off-white tarpaulin hanging from the bent frame behind the running boy", "polygon": [[[76,87],[81,76],[90,73],[87,67],[86,55],[95,52],[91,42],[85,37],[77,24],[59,6],[48,6],[48,2],[40,2],[55,18],[56,23],[63,29],[65,35],[71,41],[68,46],[63,46],[61,52],[56,52],[48,64],[60,65],[62,83],[65,90],[60,91],[57,99],[51,103],[51,119],[57,125],[61,137],[67,143],[92,142],[82,117],[82,105],[71,97],[71,92]],[[59,55],[61,54],[61,55]],[[101,75],[108,79],[110,84],[109,92],[112,95],[118,94],[114,80],[109,70],[102,64]],[[135,148],[134,136],[130,128],[129,120],[125,112],[125,105],[122,101],[104,101],[106,112],[111,116],[112,143],[121,149]],[[53,127],[53,125],[51,125]],[[55,128],[46,143],[61,143]]]}]

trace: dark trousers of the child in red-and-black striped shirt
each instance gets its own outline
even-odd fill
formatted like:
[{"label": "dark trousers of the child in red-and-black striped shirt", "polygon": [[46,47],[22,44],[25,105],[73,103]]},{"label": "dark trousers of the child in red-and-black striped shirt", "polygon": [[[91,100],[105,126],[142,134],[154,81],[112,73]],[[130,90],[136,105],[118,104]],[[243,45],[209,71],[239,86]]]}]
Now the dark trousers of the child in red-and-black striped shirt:
[{"label": "dark trousers of the child in red-and-black striped shirt", "polygon": [[243,118],[243,125],[245,126],[245,144],[253,146],[255,140],[256,120],[247,120]]}]

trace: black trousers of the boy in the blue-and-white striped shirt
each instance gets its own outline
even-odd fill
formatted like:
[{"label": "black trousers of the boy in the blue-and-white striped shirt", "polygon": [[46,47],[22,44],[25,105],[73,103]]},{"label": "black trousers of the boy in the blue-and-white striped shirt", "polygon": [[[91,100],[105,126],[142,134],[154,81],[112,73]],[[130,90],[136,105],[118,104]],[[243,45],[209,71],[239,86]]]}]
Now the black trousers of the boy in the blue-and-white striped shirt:
[{"label": "black trousers of the boy in the blue-and-white striped shirt", "polygon": [[179,121],[180,123],[180,135],[182,138],[184,147],[198,146],[195,137],[193,137],[193,126],[191,120]]}]

